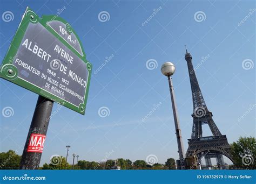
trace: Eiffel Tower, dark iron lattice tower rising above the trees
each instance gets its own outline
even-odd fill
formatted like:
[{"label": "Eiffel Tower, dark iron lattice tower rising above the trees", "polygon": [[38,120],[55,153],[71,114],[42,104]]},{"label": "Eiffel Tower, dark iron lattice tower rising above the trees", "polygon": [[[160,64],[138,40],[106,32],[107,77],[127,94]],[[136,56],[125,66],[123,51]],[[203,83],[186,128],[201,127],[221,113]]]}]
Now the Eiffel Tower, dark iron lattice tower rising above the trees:
[{"label": "Eiffel Tower, dark iron lattice tower rising above the trees", "polygon": [[[212,167],[211,158],[217,160],[217,165],[220,169],[225,169],[225,162],[223,155],[229,158],[232,162],[233,159],[230,155],[230,144],[227,142],[226,135],[221,135],[217,125],[212,119],[212,112],[207,109],[204,97],[201,93],[196,73],[194,72],[192,64],[192,56],[187,52],[185,54],[187,61],[188,73],[190,76],[190,84],[193,100],[193,126],[191,139],[188,139],[188,148],[186,152],[186,159],[196,158],[199,165],[201,159],[204,157],[206,167]],[[202,125],[208,124],[212,132],[212,136],[203,137]],[[197,164],[198,165],[198,164]],[[194,168],[196,166],[194,165]]]}]

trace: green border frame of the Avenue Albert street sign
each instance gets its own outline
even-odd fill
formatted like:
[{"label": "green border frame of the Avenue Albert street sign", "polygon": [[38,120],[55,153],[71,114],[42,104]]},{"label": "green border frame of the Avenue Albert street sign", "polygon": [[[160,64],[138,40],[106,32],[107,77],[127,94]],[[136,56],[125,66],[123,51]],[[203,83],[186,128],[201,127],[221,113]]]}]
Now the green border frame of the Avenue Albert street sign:
[{"label": "green border frame of the Avenue Albert street sign", "polygon": [[[72,32],[75,34],[75,36],[80,44],[83,55],[81,55],[78,51],[76,51],[75,48],[73,48],[64,38],[62,38],[55,30],[53,30],[50,25],[47,24],[48,22],[52,22],[53,20],[58,20],[58,21],[64,23],[66,25],[66,30],[69,33]],[[30,82],[18,77],[18,70],[14,65],[12,65],[12,63],[14,62],[14,60],[17,57],[18,48],[22,44],[22,39],[24,37],[26,29],[28,28],[29,23],[41,24],[46,30],[48,30],[51,34],[53,34],[53,36],[55,36],[66,47],[68,47],[74,54],[76,54],[78,56],[78,58],[83,60],[84,63],[86,64],[86,68],[88,71],[87,84],[86,84],[86,89],[85,89],[85,94],[84,94],[84,102],[80,103],[79,107],[62,99],[59,96],[51,94],[49,91],[46,91],[45,89],[42,89],[42,88],[36,86],[35,84],[31,84]],[[13,72],[11,74],[8,72],[10,69]],[[1,65],[1,70],[0,70],[0,77],[2,77],[5,80],[8,80],[12,83],[17,84],[18,86],[28,89],[38,95],[49,98],[52,101],[62,104],[65,107],[84,115],[87,98],[88,98],[88,93],[89,93],[91,73],[92,73],[92,65],[89,61],[86,60],[86,54],[84,53],[82,43],[81,43],[80,39],[78,38],[76,32],[69,25],[69,23],[67,23],[63,18],[58,17],[57,15],[50,15],[50,16],[43,15],[42,18],[40,18],[37,16],[37,14],[35,12],[33,12],[29,7],[27,7],[26,11],[22,17],[22,21],[19,24],[18,29],[15,33],[15,36],[12,39],[11,44],[8,48],[8,51],[6,52],[5,57],[3,59],[3,62]]]}]

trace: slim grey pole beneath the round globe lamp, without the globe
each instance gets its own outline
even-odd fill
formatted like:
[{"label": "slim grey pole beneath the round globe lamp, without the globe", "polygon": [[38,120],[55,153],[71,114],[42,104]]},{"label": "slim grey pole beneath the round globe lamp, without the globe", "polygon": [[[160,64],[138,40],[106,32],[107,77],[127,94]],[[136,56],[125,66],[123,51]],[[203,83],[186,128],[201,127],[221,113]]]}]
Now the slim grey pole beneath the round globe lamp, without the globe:
[{"label": "slim grey pole beneath the round globe lamp, without the globe", "polygon": [[169,75],[168,76],[169,81],[169,88],[171,93],[171,100],[172,100],[172,111],[173,111],[173,117],[174,117],[174,124],[176,129],[176,137],[177,137],[177,143],[178,143],[178,153],[179,153],[179,159],[180,159],[180,165],[181,169],[186,169],[185,167],[185,160],[184,160],[184,148],[183,148],[183,141],[181,137],[181,130],[179,126],[179,118],[178,118],[178,112],[177,112],[177,105],[176,105],[176,98],[174,94],[174,89],[172,85],[172,78]]}]

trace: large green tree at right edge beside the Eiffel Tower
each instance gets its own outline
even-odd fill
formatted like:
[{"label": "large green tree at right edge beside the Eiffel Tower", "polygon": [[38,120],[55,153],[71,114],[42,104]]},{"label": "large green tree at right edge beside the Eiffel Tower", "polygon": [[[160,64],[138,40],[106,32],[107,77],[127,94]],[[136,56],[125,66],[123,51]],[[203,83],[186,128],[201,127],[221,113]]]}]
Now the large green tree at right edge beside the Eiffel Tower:
[{"label": "large green tree at right edge beside the Eiffel Tower", "polygon": [[255,169],[256,139],[255,137],[239,137],[231,144],[234,165],[238,168]]}]

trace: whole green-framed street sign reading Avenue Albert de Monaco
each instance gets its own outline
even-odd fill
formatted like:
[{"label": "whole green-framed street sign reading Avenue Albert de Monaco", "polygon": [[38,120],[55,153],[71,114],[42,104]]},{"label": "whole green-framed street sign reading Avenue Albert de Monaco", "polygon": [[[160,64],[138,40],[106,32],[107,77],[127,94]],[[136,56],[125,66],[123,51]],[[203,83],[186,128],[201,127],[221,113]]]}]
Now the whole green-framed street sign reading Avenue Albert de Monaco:
[{"label": "whole green-framed street sign reading Avenue Albert de Monaco", "polygon": [[0,77],[85,114],[92,65],[72,27],[27,8],[1,65]]}]

